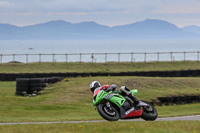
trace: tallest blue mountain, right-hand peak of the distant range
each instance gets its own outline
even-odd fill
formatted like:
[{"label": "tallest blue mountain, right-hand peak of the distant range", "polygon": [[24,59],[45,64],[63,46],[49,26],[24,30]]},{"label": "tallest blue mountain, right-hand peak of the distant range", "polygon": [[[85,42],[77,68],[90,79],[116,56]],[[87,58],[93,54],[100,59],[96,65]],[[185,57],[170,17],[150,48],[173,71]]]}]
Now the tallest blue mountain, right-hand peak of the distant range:
[{"label": "tallest blue mountain, right-hand peak of the distant range", "polygon": [[129,25],[116,26],[113,29],[122,35],[127,35],[128,33],[129,37],[139,38],[184,38],[193,36],[179,29],[174,24],[156,19],[147,19]]}]

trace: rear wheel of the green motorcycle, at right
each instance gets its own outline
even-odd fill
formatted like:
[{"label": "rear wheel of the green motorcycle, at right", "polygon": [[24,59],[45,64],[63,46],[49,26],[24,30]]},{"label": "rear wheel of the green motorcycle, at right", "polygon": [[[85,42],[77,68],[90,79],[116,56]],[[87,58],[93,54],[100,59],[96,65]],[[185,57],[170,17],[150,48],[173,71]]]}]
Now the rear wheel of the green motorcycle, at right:
[{"label": "rear wheel of the green motorcycle, at right", "polygon": [[158,112],[156,108],[149,102],[142,101],[148,104],[147,107],[143,107],[143,112],[141,118],[147,121],[154,121],[158,117]]}]

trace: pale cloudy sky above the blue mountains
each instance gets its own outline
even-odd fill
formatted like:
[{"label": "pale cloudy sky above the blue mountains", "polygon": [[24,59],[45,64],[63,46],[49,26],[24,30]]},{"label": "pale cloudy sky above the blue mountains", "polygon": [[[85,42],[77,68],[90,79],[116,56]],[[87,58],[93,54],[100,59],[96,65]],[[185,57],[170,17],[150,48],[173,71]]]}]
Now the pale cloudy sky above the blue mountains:
[{"label": "pale cloudy sky above the blue mountains", "polygon": [[64,20],[112,27],[145,19],[200,26],[200,0],[0,0],[0,23],[16,26]]}]

